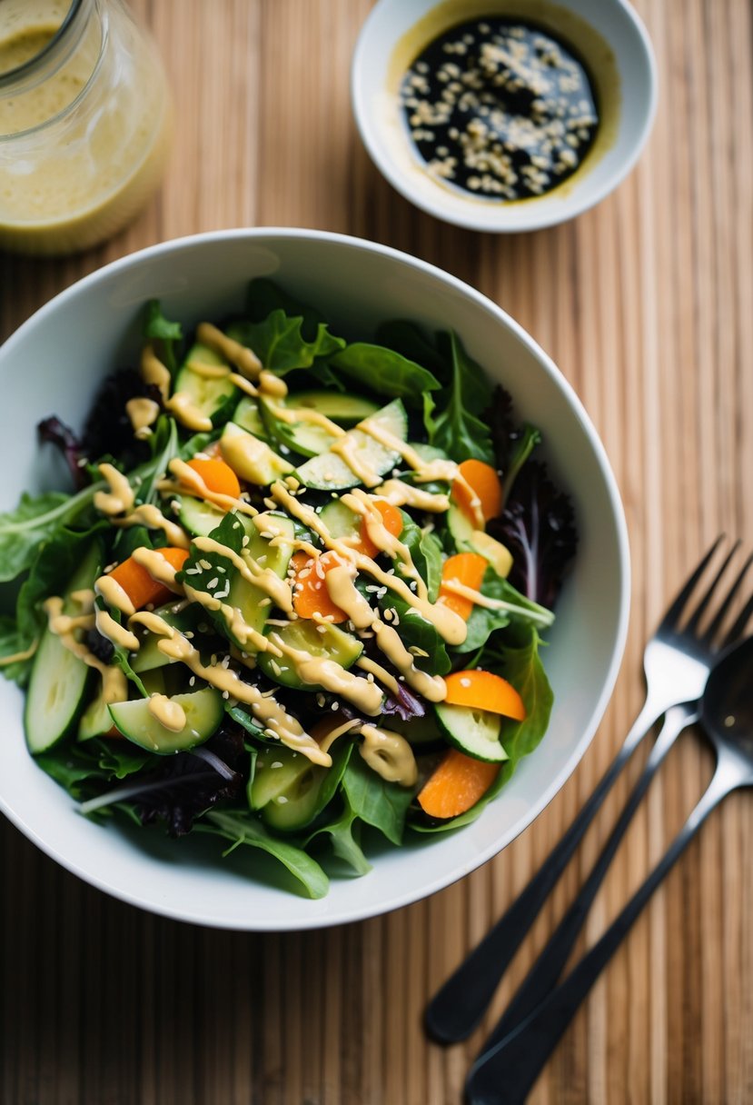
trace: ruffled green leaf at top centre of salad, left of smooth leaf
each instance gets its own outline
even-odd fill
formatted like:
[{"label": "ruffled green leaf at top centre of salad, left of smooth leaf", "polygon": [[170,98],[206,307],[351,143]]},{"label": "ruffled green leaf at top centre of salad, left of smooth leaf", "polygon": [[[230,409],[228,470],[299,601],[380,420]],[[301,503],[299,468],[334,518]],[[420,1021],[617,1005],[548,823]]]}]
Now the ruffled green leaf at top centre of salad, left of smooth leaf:
[{"label": "ruffled green leaf at top centre of salad, left of smooth leaf", "polygon": [[317,324],[310,340],[304,337],[303,325],[301,316],[291,317],[277,309],[261,323],[233,323],[227,334],[253,349],[265,368],[285,376],[295,368],[310,368],[317,358],[329,357],[344,347],[344,340],[330,334],[326,323]]}]

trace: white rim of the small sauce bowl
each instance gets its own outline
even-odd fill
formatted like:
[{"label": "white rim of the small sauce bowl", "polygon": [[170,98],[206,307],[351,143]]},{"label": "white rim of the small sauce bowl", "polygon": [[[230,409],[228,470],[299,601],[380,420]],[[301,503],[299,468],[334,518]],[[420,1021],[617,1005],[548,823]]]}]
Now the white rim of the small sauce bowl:
[{"label": "white rim of the small sauce bowl", "polygon": [[[601,3],[605,6],[611,4],[619,9],[621,13],[626,17],[632,31],[636,35],[636,42],[643,52],[648,67],[648,103],[645,116],[633,139],[627,156],[615,166],[614,170],[601,185],[590,187],[585,183],[582,188],[579,188],[575,194],[581,197],[580,201],[571,203],[566,211],[558,212],[552,207],[537,206],[535,202],[516,204],[515,215],[510,219],[509,224],[505,225],[495,225],[494,222],[490,222],[488,215],[484,214],[485,208],[482,204],[474,206],[469,203],[467,209],[459,204],[455,206],[453,197],[444,193],[439,186],[432,190],[427,189],[425,192],[423,189],[414,187],[411,178],[406,173],[400,172],[393,165],[392,159],[385,150],[380,127],[372,125],[376,104],[373,98],[368,98],[364,95],[364,90],[361,86],[361,72],[364,57],[371,49],[370,39],[381,12],[388,4],[397,2],[400,0],[378,0],[361,27],[351,59],[350,101],[356,125],[369,157],[384,179],[410,203],[434,215],[436,219],[441,219],[443,222],[464,227],[466,230],[495,234],[518,234],[528,231],[544,230],[548,227],[556,227],[560,223],[577,218],[577,215],[601,203],[603,199],[625,180],[646,145],[656,117],[658,102],[658,67],[654,46],[645,23],[628,0],[601,0]],[[436,6],[439,2],[441,0],[432,0],[432,3]],[[569,0],[553,0],[553,2],[563,8],[569,7]],[[399,38],[393,40],[391,50],[394,50],[397,41]],[[618,59],[618,49],[615,49],[614,53],[615,57]],[[585,179],[586,181],[588,180],[587,177]],[[508,211],[511,210],[511,208],[508,208]],[[537,210],[539,214],[537,214]],[[489,208],[489,211],[495,214],[503,211],[503,207]]]}]

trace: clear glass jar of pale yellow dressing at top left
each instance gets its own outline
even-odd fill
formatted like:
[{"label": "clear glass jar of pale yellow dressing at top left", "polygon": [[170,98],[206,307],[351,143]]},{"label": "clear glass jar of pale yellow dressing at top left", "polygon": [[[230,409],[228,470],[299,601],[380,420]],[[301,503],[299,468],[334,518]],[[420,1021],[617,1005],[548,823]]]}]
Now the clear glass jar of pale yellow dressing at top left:
[{"label": "clear glass jar of pale yellow dressing at top left", "polygon": [[109,238],[160,181],[162,63],[120,0],[0,0],[0,248]]}]

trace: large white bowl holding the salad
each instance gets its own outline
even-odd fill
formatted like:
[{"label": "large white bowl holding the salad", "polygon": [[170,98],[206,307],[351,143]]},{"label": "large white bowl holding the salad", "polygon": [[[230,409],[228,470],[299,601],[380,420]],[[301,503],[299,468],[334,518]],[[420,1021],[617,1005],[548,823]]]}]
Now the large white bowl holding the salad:
[{"label": "large white bowl holding the salad", "polygon": [[520,326],[422,261],[310,230],[218,231],[166,242],[107,265],[42,307],[0,348],[0,509],[14,506],[24,488],[50,486],[51,451],[41,454],[36,422],[54,412],[82,425],[103,376],[134,362],[145,301],[160,298],[169,316],[191,326],[241,308],[246,282],[262,275],[353,335],[369,335],[392,317],[457,330],[468,352],[512,393],[520,415],[541,428],[580,530],[545,654],[555,705],[539,749],[474,824],[431,843],[384,850],[370,874],[333,878],[320,901],[255,881],[258,853],[252,850],[223,861],[214,839],[172,841],[81,817],[29,756],[22,694],[0,680],[0,808],[35,844],[145,909],[225,928],[284,930],[358,920],[414,902],[468,874],[531,823],[574,769],[608,701],[626,633],[629,568],[604,449],[568,382]]}]

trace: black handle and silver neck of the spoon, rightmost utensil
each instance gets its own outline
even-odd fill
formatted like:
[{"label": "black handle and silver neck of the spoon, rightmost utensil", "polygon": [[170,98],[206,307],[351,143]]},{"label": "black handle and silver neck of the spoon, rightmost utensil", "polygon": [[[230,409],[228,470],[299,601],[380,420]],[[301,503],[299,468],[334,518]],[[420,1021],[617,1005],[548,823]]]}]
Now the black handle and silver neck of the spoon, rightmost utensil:
[{"label": "black handle and silver neck of the spoon, rightmost utensil", "polygon": [[598,943],[522,1024],[476,1061],[466,1082],[468,1105],[522,1105],[581,1002],[654,891],[709,813],[741,785],[740,780],[731,783],[725,774],[717,769],[682,829]]}]

